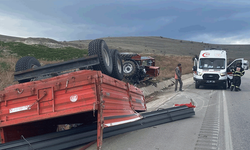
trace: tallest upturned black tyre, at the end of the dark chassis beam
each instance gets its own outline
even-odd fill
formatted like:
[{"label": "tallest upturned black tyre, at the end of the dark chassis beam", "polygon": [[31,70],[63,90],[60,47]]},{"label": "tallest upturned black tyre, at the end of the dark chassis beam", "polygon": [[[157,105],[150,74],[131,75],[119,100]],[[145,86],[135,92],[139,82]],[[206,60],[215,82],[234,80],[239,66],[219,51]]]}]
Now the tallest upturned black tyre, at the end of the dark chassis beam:
[{"label": "tallest upturned black tyre, at the end of the dark chassis beam", "polygon": [[106,75],[111,75],[113,70],[113,63],[110,51],[106,42],[102,39],[96,39],[89,43],[89,56],[98,55],[100,64],[93,66],[94,70],[101,70]]}]

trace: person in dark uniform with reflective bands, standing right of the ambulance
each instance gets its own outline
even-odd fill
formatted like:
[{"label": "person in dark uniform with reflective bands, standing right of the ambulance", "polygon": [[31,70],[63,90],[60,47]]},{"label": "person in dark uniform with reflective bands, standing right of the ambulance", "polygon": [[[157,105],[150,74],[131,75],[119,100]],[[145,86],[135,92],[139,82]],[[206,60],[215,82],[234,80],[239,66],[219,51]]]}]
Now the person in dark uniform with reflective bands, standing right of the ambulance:
[{"label": "person in dark uniform with reflective bands, standing right of the ambulance", "polygon": [[235,88],[235,91],[240,91],[241,77],[245,74],[244,69],[241,67],[241,63],[232,70],[233,83],[231,84],[231,91]]}]

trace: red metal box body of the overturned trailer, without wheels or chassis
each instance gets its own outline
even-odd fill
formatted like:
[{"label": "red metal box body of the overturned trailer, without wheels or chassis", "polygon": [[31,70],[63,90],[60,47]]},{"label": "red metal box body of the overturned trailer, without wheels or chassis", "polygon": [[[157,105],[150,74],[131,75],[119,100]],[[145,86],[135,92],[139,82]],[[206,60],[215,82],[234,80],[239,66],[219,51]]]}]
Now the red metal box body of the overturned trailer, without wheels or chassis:
[{"label": "red metal box body of the overturned trailer, without wheels or chassis", "polygon": [[0,91],[1,142],[55,132],[58,124],[97,122],[97,147],[103,128],[141,119],[140,89],[101,71],[81,70],[16,84]]}]

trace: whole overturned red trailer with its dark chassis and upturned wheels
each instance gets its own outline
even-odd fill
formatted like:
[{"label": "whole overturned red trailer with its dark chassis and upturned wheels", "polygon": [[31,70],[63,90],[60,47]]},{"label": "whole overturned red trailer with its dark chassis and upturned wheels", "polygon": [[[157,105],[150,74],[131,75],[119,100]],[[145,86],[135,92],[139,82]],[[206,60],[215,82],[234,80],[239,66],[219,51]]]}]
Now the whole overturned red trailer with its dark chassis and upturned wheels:
[{"label": "whole overturned red trailer with its dark chassis and upturned wheels", "polygon": [[[101,39],[90,42],[89,54],[42,67],[33,57],[20,59],[14,74],[20,84],[0,91],[2,143],[55,132],[58,124],[96,123],[101,149],[104,128],[141,119],[137,111],[146,110],[142,91],[112,77],[121,60],[112,62],[115,55]],[[65,72],[69,69],[76,70]]]}]

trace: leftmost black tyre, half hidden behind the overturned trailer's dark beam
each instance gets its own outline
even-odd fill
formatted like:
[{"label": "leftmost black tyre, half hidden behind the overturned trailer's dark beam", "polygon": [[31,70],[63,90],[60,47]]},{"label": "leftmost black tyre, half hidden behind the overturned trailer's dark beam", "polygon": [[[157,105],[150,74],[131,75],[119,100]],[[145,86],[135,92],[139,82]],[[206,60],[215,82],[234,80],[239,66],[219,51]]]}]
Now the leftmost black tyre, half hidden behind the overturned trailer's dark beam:
[{"label": "leftmost black tyre, half hidden behind the overturned trailer's dark beam", "polygon": [[41,66],[40,62],[35,57],[25,56],[17,61],[15,66],[15,71],[16,72],[24,71],[27,69],[36,68],[40,66]]}]

